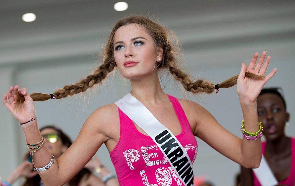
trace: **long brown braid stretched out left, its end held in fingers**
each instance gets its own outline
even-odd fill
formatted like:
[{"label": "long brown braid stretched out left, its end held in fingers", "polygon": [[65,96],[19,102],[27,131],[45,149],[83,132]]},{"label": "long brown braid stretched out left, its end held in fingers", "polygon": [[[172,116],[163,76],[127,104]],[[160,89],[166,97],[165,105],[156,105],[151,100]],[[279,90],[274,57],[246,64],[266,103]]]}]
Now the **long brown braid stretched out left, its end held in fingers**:
[{"label": "long brown braid stretched out left, its end held in fingers", "polygon": [[[85,92],[88,88],[93,87],[95,84],[101,83],[108,74],[114,70],[115,63],[112,58],[106,58],[104,63],[100,65],[93,74],[87,76],[81,81],[75,83],[74,85],[66,85],[62,89],[57,89],[53,95],[55,99],[65,98],[69,95],[72,96],[74,94],[78,94],[80,92]],[[42,94],[42,93],[33,93],[30,94],[33,101],[45,101],[51,98],[50,94]],[[17,103],[24,102],[23,95],[19,95],[17,99]]]}]

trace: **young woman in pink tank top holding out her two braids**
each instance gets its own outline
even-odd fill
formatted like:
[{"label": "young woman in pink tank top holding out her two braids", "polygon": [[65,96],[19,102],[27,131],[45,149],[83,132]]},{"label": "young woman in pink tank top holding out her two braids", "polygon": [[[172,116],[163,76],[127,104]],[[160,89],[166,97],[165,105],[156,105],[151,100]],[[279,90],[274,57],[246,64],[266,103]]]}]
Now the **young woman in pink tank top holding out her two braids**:
[{"label": "young woman in pink tank top holding out her two braids", "polygon": [[[61,99],[84,92],[101,83],[114,68],[118,68],[124,78],[130,79],[130,93],[176,136],[192,162],[197,152],[194,136],[198,136],[238,164],[248,168],[258,167],[261,159],[260,138],[255,141],[240,139],[224,129],[199,104],[176,99],[163,92],[158,72],[165,69],[181,82],[186,91],[193,94],[215,92],[214,84],[201,79],[191,81],[189,75],[178,67],[177,51],[177,43],[169,40],[168,30],[163,26],[146,17],[127,17],[118,21],[112,29],[104,50],[103,63],[92,75],[74,85],[57,89],[53,95],[29,94],[25,87],[19,89],[16,85],[10,87],[8,94],[4,94],[3,103],[20,123],[25,123],[22,129],[27,142],[36,143],[41,136],[37,119],[31,120],[36,118],[33,101]],[[273,69],[264,76],[270,58],[266,57],[264,51],[257,61],[258,53],[255,53],[248,68],[242,63],[238,76],[219,84],[219,88],[237,84],[244,125],[248,132],[253,133],[260,128],[256,99],[264,84],[276,72]],[[39,172],[45,185],[63,185],[68,182],[94,156],[102,143],[110,152],[120,185],[182,185],[154,141],[115,104],[95,110],[67,151],[49,169]],[[46,148],[41,148],[33,155],[35,167],[44,167],[50,161],[51,154]]]}]

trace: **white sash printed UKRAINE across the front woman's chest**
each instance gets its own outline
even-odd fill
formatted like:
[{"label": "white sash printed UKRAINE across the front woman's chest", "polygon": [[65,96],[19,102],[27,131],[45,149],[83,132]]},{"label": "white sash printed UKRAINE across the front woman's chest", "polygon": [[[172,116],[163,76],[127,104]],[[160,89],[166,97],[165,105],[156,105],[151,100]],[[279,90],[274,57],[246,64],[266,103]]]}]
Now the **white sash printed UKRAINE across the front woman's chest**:
[{"label": "white sash printed UKRAINE across the front woman's chest", "polygon": [[115,104],[155,141],[182,183],[186,186],[194,185],[191,159],[173,133],[130,93]]}]

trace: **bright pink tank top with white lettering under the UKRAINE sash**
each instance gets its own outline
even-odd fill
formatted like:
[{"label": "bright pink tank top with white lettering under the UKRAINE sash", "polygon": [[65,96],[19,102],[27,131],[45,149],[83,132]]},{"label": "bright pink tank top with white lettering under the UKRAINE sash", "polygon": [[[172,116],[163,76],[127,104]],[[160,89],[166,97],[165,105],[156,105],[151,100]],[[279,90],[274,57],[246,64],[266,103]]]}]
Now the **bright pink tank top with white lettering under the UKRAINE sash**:
[{"label": "bright pink tank top with white lettering under the UKRAINE sash", "polygon": [[[183,109],[175,97],[168,95],[181,124],[181,133],[176,136],[192,163],[198,150],[195,136]],[[181,186],[183,185],[169,162],[149,136],[140,133],[119,108],[120,138],[110,152],[120,185],[128,186]]]}]

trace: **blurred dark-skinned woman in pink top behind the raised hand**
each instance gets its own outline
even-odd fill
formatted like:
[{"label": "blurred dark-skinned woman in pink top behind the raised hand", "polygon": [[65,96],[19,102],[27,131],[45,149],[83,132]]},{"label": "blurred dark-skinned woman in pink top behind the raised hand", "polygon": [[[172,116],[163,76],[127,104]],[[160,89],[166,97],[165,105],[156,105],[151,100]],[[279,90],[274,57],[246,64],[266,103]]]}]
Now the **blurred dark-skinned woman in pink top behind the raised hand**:
[{"label": "blurred dark-skinned woman in pink top behind the raised hand", "polygon": [[[266,142],[262,143],[264,155],[279,185],[293,186],[295,183],[295,138],[285,135],[289,122],[286,102],[278,88],[262,89],[257,98],[258,118],[263,125]],[[242,185],[260,186],[252,169],[241,167]]]}]

